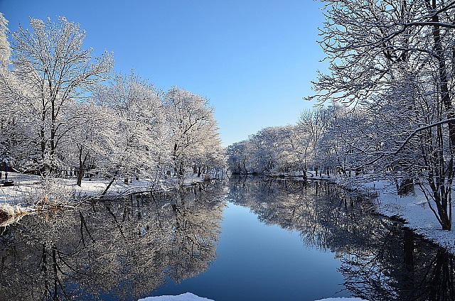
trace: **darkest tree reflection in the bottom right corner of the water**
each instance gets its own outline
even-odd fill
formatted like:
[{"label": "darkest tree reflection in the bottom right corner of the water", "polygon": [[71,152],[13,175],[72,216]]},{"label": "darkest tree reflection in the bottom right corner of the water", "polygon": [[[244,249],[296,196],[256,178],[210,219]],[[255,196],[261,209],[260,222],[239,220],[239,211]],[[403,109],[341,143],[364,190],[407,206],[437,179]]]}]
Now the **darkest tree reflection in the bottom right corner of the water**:
[{"label": "darkest tree reflection in the bottom right corner of the water", "polygon": [[346,287],[368,300],[455,300],[455,265],[447,251],[398,224],[382,239],[343,254]]}]

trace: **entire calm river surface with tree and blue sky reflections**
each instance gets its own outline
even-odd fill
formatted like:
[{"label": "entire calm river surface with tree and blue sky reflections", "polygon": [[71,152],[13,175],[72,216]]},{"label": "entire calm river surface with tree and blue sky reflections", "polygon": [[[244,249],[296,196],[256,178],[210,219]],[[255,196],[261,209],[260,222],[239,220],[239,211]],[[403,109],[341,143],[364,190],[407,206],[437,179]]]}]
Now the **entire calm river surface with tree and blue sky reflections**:
[{"label": "entire calm river surface with tree and blue sky reflections", "polygon": [[232,177],[1,229],[0,300],[455,300],[454,258],[326,183]]}]

